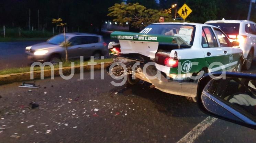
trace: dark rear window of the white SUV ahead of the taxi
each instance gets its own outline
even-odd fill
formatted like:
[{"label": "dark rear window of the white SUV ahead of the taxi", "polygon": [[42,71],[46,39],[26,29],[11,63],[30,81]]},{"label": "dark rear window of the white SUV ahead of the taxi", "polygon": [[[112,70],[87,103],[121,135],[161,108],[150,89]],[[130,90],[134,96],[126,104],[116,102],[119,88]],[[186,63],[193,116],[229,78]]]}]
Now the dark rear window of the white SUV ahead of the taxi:
[{"label": "dark rear window of the white SUV ahead of the taxi", "polygon": [[240,26],[239,23],[206,23],[206,24],[219,27],[227,35],[239,34],[239,26]]}]

